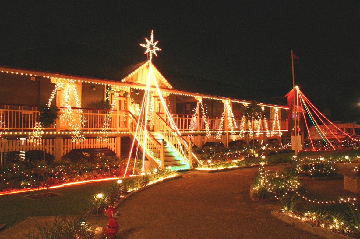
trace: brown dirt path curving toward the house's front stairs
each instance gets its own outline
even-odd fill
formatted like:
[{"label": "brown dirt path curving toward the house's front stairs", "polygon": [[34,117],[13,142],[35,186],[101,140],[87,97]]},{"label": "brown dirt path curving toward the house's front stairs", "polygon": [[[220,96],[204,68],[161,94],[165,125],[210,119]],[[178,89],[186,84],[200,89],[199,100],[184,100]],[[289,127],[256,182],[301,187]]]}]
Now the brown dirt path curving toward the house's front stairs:
[{"label": "brown dirt path curving toward the house's front stairs", "polygon": [[144,190],[120,206],[120,238],[319,238],[273,218],[277,203],[251,201],[256,171],[193,171]]}]

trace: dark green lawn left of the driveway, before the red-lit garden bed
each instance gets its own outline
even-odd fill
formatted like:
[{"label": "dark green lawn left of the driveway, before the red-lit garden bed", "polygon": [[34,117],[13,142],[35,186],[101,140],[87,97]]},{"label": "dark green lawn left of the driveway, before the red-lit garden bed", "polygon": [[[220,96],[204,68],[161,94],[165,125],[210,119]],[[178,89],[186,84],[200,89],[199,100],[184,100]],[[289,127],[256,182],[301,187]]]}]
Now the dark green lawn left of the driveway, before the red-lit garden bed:
[{"label": "dark green lawn left of the driveway, before the red-lit garden bed", "polygon": [[37,194],[37,191],[0,195],[0,224],[6,224],[9,228],[28,217],[82,215],[89,210],[89,197],[102,191],[108,184],[109,181],[102,181],[49,189],[49,192],[61,196],[36,200],[24,196]]}]

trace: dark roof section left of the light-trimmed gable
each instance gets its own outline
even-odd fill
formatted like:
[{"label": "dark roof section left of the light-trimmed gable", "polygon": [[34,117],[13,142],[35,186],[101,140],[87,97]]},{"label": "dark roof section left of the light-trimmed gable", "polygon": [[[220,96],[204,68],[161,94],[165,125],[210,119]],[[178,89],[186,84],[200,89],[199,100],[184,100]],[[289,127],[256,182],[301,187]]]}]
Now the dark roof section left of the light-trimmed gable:
[{"label": "dark roof section left of the light-trimmed gable", "polygon": [[144,62],[95,46],[69,42],[0,54],[0,65],[120,81]]}]

